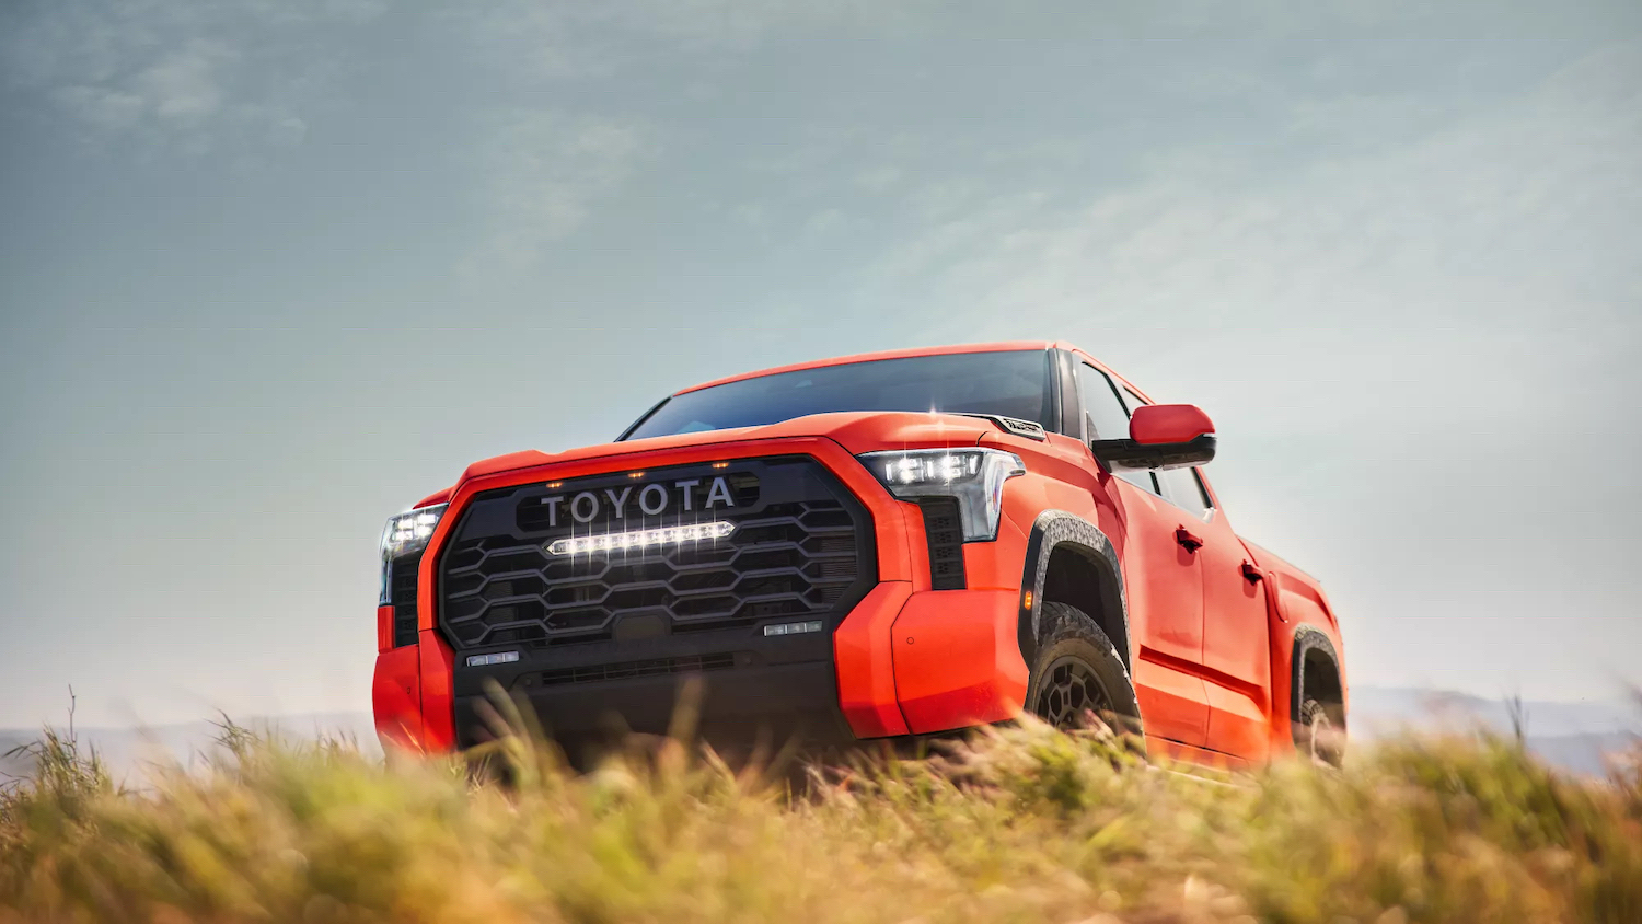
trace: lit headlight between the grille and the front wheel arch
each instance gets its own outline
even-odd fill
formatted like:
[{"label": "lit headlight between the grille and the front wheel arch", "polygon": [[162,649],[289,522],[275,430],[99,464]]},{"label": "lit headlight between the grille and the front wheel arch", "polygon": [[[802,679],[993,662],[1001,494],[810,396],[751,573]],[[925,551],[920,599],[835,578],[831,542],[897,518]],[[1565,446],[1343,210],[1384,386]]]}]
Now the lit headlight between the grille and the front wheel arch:
[{"label": "lit headlight between the grille and the front wheel arch", "polygon": [[998,538],[1003,483],[1026,474],[1021,458],[1002,450],[900,450],[865,453],[860,461],[901,501],[957,497],[964,542]]}]

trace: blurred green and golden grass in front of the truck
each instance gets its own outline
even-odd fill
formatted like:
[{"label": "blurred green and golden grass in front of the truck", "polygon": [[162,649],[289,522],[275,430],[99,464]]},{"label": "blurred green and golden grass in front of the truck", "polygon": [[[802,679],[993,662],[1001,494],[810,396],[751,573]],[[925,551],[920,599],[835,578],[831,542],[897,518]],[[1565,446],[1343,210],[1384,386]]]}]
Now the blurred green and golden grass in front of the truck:
[{"label": "blurred green and golden grass in front of the truck", "polygon": [[586,775],[225,727],[126,791],[48,730],[0,796],[0,922],[1642,921],[1642,750],[1575,780],[1496,737],[1205,781],[995,729],[790,776],[677,740]]}]

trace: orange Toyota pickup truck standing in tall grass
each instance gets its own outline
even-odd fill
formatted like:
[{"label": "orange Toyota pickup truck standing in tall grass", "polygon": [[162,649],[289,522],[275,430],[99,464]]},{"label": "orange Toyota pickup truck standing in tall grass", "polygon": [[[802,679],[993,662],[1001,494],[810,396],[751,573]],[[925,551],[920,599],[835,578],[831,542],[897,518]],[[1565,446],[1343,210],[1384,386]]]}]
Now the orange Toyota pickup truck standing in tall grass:
[{"label": "orange Toyota pickup truck standing in tall grass", "polygon": [[376,727],[440,752],[527,702],[566,748],[1136,725],[1156,753],[1338,760],[1340,629],[1238,537],[1215,428],[1066,343],[801,363],[616,441],[473,463],[381,540]]}]

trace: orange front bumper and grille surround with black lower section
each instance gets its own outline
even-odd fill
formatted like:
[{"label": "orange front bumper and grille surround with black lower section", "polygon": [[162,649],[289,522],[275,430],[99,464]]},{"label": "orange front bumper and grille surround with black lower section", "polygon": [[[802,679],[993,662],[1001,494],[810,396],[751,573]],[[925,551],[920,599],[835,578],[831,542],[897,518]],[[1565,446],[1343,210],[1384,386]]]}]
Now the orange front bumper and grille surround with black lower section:
[{"label": "orange front bumper and grille surround with black lower section", "polygon": [[[1018,586],[929,589],[923,514],[892,499],[842,446],[795,438],[706,450],[606,458],[581,466],[502,473],[463,484],[430,542],[419,583],[419,643],[383,650],[373,699],[384,742],[414,750],[452,750],[488,737],[484,702],[496,689],[529,702],[544,730],[578,742],[617,730],[665,732],[685,673],[701,679],[699,729],[709,739],[768,735],[785,743],[834,743],[933,734],[1013,717],[1026,694],[1026,665],[1016,642]],[[711,455],[709,455],[711,453]],[[563,683],[566,660],[552,666],[525,652],[519,661],[484,671],[456,670],[456,653],[433,625],[435,568],[443,535],[466,501],[481,491],[534,481],[570,479],[622,468],[688,464],[703,460],[801,453],[821,461],[870,512],[878,583],[831,634],[742,640],[724,652],[703,638],[699,652],[672,640],[665,652],[645,642],[612,642],[578,650],[568,668],[619,670]],[[967,573],[1021,574],[1025,545],[1003,530],[997,542],[964,547]],[[1003,561],[1008,560],[1008,561]],[[998,583],[993,579],[993,583]],[[1013,581],[1018,584],[1018,579]],[[736,663],[726,665],[731,655]],[[660,656],[647,656],[660,655]],[[713,656],[695,663],[691,655]]]}]

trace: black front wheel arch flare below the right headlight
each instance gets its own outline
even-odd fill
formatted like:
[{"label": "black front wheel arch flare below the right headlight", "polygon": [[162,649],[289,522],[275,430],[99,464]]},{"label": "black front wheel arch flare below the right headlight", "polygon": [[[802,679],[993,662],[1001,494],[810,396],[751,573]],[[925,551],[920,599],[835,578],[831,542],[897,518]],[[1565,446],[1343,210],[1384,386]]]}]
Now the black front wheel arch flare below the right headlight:
[{"label": "black front wheel arch flare below the right headlight", "polygon": [[1043,638],[1043,604],[1066,602],[1089,614],[1133,671],[1133,640],[1128,625],[1128,596],[1117,548],[1100,527],[1067,510],[1044,510],[1026,538],[1021,588],[1031,591],[1031,606],[1021,606],[1018,642],[1021,658],[1031,666]]}]

